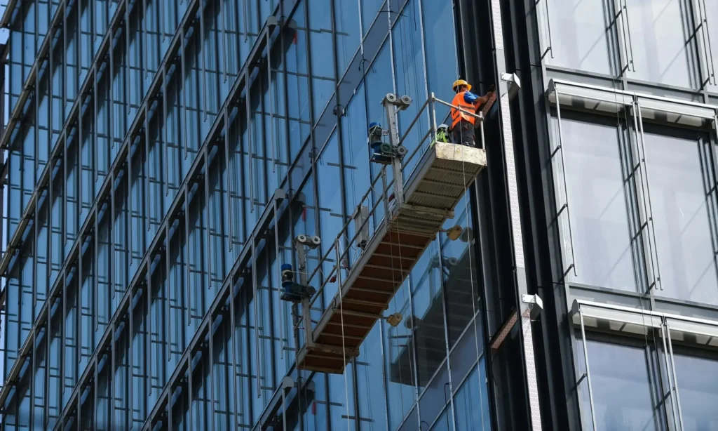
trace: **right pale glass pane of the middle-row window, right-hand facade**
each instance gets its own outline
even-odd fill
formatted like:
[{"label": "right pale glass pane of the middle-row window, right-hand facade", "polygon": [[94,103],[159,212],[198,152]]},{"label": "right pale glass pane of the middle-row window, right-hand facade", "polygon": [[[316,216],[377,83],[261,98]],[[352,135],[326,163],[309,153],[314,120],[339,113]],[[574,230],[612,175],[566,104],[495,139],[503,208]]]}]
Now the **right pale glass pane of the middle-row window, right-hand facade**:
[{"label": "right pale glass pane of the middle-row window, right-hand facade", "polygon": [[647,127],[645,160],[663,287],[656,294],[717,304],[718,280],[698,136]]}]

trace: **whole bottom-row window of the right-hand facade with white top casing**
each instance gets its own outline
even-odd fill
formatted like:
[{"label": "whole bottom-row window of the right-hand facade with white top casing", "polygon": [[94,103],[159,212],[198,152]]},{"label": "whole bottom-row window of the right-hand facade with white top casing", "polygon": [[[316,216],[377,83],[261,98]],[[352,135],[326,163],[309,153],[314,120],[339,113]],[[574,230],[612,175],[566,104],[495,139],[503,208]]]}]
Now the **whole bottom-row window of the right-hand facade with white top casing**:
[{"label": "whole bottom-row window of the right-hand facade with white top casing", "polygon": [[585,430],[710,430],[716,323],[581,303],[574,315]]}]

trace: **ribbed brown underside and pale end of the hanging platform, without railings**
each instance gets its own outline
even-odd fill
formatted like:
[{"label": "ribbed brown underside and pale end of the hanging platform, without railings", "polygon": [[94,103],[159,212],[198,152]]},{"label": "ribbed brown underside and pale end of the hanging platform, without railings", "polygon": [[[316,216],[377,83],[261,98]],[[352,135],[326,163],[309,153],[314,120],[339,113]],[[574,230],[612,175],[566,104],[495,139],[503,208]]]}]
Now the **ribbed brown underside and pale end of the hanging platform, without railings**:
[{"label": "ribbed brown underside and pale end of the hanging platform, without railings", "polygon": [[426,150],[404,182],[404,204],[391,208],[390,203],[388,220],[381,221],[358,261],[343,272],[340,289],[312,330],[312,340],[299,350],[298,369],[344,372],[485,166],[483,149],[438,142]]}]

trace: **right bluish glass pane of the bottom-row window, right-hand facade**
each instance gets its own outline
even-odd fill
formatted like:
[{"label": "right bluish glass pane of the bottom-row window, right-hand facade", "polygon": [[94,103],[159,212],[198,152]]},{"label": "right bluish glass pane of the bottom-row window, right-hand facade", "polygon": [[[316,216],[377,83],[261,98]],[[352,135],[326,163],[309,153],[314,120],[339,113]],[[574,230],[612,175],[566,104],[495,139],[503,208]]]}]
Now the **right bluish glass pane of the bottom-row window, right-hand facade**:
[{"label": "right bluish glass pane of the bottom-row window, right-hand facade", "polygon": [[718,356],[676,347],[673,353],[684,430],[718,429],[718,386],[708,378],[718,375]]}]

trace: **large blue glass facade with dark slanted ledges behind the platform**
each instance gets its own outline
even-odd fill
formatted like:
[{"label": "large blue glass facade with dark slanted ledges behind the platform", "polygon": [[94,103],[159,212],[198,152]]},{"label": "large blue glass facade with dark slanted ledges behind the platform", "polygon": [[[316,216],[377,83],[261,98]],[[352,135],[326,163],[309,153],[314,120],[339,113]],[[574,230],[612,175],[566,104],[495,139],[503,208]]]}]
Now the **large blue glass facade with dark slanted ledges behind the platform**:
[{"label": "large blue glass facade with dark slanted ledges behind the platform", "polygon": [[[17,7],[24,34],[37,14]],[[464,236],[440,234],[389,305],[404,321],[376,325],[343,376],[294,369],[297,310],[279,300],[293,238],[322,238],[313,271],[378,172],[365,136],[383,96],[414,98],[402,131],[450,96],[451,6],[72,8],[9,141],[11,235],[33,215],[8,267],[4,426],[247,429],[291,375],[311,387],[292,429],[489,429],[468,200],[450,221]]]}]

